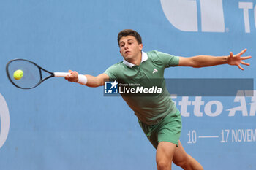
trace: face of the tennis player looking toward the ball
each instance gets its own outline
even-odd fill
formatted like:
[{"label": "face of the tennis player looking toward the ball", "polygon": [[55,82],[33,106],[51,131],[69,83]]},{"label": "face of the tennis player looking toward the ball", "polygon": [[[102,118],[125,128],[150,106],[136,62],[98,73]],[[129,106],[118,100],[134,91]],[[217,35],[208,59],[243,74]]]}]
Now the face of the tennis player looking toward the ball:
[{"label": "face of the tennis player looking toward the ball", "polygon": [[143,45],[138,44],[134,36],[123,36],[119,41],[120,53],[126,61],[140,57]]}]

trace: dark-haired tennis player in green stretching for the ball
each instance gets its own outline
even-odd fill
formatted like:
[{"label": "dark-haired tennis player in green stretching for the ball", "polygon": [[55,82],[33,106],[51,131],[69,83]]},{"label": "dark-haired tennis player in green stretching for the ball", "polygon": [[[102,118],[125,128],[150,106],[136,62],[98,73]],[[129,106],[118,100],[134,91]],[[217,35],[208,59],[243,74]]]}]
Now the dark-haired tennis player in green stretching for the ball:
[{"label": "dark-haired tennis player in green stretching for the ball", "polygon": [[[78,74],[71,71],[71,75],[65,77],[69,82],[78,82],[89,87],[105,85],[105,81],[118,79],[153,79],[163,78],[164,71],[173,66],[191,66],[195,68],[229,64],[238,66],[244,70],[240,64],[249,66],[243,60],[251,56],[241,57],[246,52],[229,56],[209,56],[197,55],[184,58],[161,53],[158,51],[143,52],[143,44],[138,32],[126,29],[118,34],[118,45],[124,60],[110,66],[103,74],[97,77],[91,75]],[[161,87],[164,95],[152,97],[129,97],[123,96],[129,107],[138,117],[141,128],[149,141],[157,149],[156,161],[158,170],[170,170],[172,162],[182,169],[201,170],[200,165],[194,158],[185,152],[179,141],[181,135],[181,114],[170,99],[170,94],[165,88],[165,83]],[[166,95],[168,94],[168,95]]]}]

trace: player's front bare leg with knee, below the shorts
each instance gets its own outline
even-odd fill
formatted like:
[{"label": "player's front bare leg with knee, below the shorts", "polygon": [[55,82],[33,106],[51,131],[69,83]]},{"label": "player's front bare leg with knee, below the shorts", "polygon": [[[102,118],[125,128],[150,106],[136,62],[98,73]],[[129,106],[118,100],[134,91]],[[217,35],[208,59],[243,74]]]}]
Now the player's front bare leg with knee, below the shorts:
[{"label": "player's front bare leg with knee, below the shorts", "polygon": [[159,142],[157,146],[157,169],[171,170],[176,144],[170,142]]}]

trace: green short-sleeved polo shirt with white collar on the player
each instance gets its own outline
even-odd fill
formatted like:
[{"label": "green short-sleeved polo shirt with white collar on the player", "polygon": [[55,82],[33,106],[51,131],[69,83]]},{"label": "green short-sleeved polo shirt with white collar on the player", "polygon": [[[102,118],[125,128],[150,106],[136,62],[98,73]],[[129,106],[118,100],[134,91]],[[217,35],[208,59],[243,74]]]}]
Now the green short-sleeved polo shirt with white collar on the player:
[{"label": "green short-sleeved polo shirt with white collar on the player", "polygon": [[110,81],[140,83],[141,86],[150,84],[162,88],[162,93],[153,96],[122,95],[124,101],[127,102],[141,122],[154,125],[159,123],[167,114],[175,114],[177,111],[165,87],[164,72],[165,68],[178,66],[178,60],[177,56],[156,50],[147,53],[142,52],[140,66],[135,66],[124,60],[110,66],[105,74],[108,74]]}]

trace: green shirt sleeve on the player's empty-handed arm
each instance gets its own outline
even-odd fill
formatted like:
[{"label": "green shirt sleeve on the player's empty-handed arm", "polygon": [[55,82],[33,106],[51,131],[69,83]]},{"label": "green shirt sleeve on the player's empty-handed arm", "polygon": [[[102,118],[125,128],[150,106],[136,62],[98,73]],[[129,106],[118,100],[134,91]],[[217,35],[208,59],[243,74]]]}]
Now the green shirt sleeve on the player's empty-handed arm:
[{"label": "green shirt sleeve on the player's empty-handed arm", "polygon": [[157,51],[157,55],[159,57],[159,60],[162,61],[162,63],[165,65],[165,68],[170,66],[178,66],[178,61],[179,61],[178,56],[162,53],[159,51]]}]

